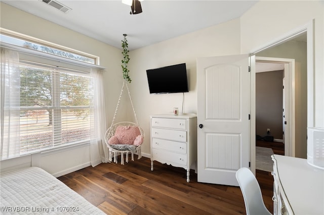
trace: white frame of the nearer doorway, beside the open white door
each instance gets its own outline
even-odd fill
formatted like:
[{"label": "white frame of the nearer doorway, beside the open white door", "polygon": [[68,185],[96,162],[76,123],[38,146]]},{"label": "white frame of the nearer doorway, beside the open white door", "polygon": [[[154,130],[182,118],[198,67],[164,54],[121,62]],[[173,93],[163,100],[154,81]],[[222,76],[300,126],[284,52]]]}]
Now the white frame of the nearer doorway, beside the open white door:
[{"label": "white frame of the nearer doorway, beside the open white door", "polygon": [[[279,38],[264,44],[261,48],[257,48],[250,53],[250,67],[251,72],[255,74],[256,70],[256,53],[263,51],[267,48],[274,47],[278,44],[287,42],[302,33],[307,33],[307,128],[314,127],[315,116],[314,116],[314,19],[310,22],[302,25]],[[256,136],[256,110],[255,110],[255,75],[251,75],[251,137]],[[308,141],[308,140],[307,140]],[[255,138],[251,138],[251,171],[255,174],[256,162],[255,162]]]}]

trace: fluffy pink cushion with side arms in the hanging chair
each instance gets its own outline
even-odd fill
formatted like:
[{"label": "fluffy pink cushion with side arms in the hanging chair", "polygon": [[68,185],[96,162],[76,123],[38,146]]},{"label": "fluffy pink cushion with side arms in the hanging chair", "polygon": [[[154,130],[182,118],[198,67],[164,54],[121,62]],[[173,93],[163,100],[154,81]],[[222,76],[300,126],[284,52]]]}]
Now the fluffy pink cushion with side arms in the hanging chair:
[{"label": "fluffy pink cushion with side arms in the hanging chair", "polygon": [[118,126],[114,136],[109,140],[109,144],[128,144],[139,146],[143,142],[143,137],[137,126]]}]

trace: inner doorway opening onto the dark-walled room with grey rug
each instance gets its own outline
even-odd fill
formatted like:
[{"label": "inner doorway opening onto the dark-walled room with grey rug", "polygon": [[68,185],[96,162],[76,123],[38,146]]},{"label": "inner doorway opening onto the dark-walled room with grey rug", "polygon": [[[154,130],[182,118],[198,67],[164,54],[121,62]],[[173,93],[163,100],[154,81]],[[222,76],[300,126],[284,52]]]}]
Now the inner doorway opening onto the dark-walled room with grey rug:
[{"label": "inner doorway opening onto the dark-walled room with grey rug", "polygon": [[266,172],[273,170],[272,154],[285,155],[284,61],[289,59],[256,59],[256,169]]}]

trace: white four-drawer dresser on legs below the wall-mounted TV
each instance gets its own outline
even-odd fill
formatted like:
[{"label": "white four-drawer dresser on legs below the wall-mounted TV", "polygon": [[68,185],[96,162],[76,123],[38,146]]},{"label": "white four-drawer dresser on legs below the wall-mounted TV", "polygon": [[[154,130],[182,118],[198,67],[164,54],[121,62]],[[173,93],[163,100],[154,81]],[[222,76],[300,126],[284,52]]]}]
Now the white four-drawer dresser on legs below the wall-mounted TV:
[{"label": "white four-drawer dresser on legs below the wall-mounted TV", "polygon": [[197,116],[163,114],[151,116],[151,171],[153,161],[187,170],[197,160]]}]

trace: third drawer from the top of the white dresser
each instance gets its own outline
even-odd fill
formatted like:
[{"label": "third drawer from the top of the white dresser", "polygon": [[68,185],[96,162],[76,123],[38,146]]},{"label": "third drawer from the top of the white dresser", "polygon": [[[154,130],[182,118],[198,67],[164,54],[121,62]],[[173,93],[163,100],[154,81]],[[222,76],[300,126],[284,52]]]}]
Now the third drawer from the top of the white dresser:
[{"label": "third drawer from the top of the white dresser", "polygon": [[170,150],[173,152],[179,152],[183,154],[187,153],[187,143],[175,142],[171,140],[153,138],[152,148],[160,148],[160,149]]}]

